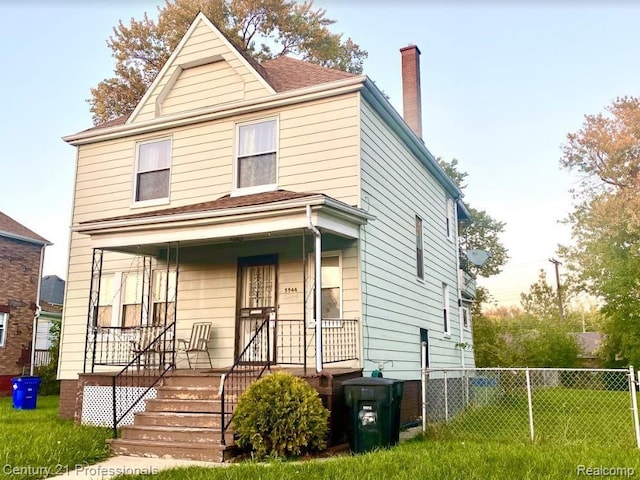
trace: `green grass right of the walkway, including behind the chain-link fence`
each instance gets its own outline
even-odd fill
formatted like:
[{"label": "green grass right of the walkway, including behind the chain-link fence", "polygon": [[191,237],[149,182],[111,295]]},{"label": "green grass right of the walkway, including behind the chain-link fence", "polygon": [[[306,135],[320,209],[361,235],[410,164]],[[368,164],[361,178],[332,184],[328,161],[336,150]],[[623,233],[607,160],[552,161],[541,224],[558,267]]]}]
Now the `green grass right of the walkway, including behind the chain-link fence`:
[{"label": "green grass right of the walkway, including behind the chain-link fence", "polygon": [[[120,480],[377,480],[451,478],[567,479],[640,474],[626,392],[546,389],[536,392],[536,441],[529,441],[526,396],[512,391],[469,409],[447,425],[388,450],[314,462],[244,463],[174,469]],[[615,475],[611,470],[617,468]],[[598,475],[599,474],[599,475]]]}]

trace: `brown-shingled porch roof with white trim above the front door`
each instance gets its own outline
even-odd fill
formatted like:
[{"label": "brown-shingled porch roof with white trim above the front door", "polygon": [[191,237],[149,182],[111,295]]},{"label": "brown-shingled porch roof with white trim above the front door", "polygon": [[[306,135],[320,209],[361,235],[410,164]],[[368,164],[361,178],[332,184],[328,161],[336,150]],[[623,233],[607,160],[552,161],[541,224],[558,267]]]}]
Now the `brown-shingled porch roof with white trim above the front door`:
[{"label": "brown-shingled porch roof with white trim above the front door", "polygon": [[374,217],[321,193],[278,190],[241,197],[82,222],[72,227],[91,237],[94,248],[121,251],[167,243],[203,244],[288,235],[313,225],[358,238],[360,225]]}]

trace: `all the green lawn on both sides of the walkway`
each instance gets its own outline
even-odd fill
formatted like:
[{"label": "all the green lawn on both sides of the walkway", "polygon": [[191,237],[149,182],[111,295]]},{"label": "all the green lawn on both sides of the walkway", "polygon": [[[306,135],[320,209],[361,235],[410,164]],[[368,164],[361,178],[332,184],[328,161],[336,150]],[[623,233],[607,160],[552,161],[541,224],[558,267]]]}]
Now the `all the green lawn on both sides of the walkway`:
[{"label": "all the green lawn on both sides of the walkway", "polygon": [[[199,479],[256,479],[288,480],[300,479],[567,479],[588,476],[587,469],[618,468],[611,471],[592,471],[601,477],[621,478],[640,475],[640,450],[633,446],[607,444],[603,435],[611,430],[605,425],[608,407],[618,409],[624,405],[620,392],[599,392],[597,401],[579,391],[548,393],[548,404],[544,396],[539,404],[545,406],[548,417],[555,419],[556,433],[546,433],[544,441],[531,444],[515,441],[509,435],[513,423],[509,418],[520,420],[521,400],[511,398],[513,409],[503,405],[501,412],[488,405],[470,410],[451,422],[457,425],[457,438],[452,439],[451,430],[440,429],[431,438],[417,438],[388,450],[364,455],[343,456],[328,460],[307,462],[272,462],[267,464],[242,463],[227,468],[189,468],[160,472],[157,475],[120,476],[120,480],[199,480]],[[565,395],[566,394],[566,395]],[[601,395],[600,395],[601,394]],[[624,394],[624,393],[622,393]],[[569,395],[569,396],[567,396]],[[575,398],[573,398],[575,397]],[[584,398],[591,398],[587,401]],[[580,407],[576,401],[583,399]],[[526,402],[525,402],[526,406]],[[586,410],[581,410],[581,408]],[[628,405],[627,405],[628,407]],[[0,399],[0,478],[36,479],[47,469],[51,473],[65,471],[67,466],[95,463],[107,456],[105,439],[110,431],[102,428],[77,427],[73,422],[57,418],[58,398],[40,397],[36,410],[13,410],[10,399]],[[589,442],[567,437],[567,423],[586,428],[588,422],[598,422],[590,416],[580,422],[576,414],[600,410],[605,420],[590,427]],[[617,411],[617,410],[616,410]],[[553,415],[551,415],[553,413]],[[629,413],[629,412],[627,412]],[[488,422],[487,418],[493,418]],[[498,415],[502,415],[502,417]],[[541,413],[538,414],[542,415]],[[592,415],[589,413],[589,415]],[[525,415],[526,421],[526,415]],[[502,431],[509,441],[489,439],[479,434],[481,422],[497,425],[493,433]],[[511,426],[509,426],[511,425]],[[605,428],[606,427],[606,428]],[[502,430],[500,430],[502,428]],[[520,428],[520,427],[519,427]],[[526,424],[524,435],[527,436]],[[615,424],[613,428],[618,428]],[[579,430],[578,430],[579,431]],[[595,431],[595,434],[593,433]],[[519,433],[520,430],[518,430]],[[466,434],[463,438],[461,435]],[[498,435],[499,437],[499,435]],[[17,471],[15,468],[29,469]],[[625,470],[626,469],[626,470]],[[580,475],[582,473],[582,475]],[[606,473],[606,475],[605,475]],[[593,475],[596,476],[596,475]]]}]

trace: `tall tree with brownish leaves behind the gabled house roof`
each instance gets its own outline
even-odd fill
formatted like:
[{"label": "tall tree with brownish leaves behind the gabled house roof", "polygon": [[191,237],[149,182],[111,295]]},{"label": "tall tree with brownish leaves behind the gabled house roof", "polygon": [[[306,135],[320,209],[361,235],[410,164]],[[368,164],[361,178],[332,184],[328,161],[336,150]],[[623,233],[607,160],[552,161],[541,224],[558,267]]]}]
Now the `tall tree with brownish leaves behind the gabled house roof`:
[{"label": "tall tree with brownish leaves behind the gabled house roof", "polygon": [[258,61],[289,54],[362,73],[368,56],[351,38],[332,33],[335,20],[312,1],[166,0],[157,20],[145,13],[114,27],[107,41],[116,60],[114,76],[92,88],[89,99],[95,124],[133,111],[200,11]]}]

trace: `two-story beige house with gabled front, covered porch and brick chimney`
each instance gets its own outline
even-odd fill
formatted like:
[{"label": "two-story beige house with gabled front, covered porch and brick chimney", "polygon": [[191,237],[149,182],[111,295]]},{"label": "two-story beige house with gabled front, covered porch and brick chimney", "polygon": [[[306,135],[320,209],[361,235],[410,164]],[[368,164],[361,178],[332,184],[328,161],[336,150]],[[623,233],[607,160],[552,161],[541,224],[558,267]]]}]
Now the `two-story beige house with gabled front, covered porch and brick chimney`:
[{"label": "two-story beige house with gabled front, covered porch and brick chimney", "polygon": [[193,366],[175,339],[203,322],[200,370],[384,368],[416,382],[416,408],[422,342],[431,366],[473,365],[456,347],[471,342],[468,214],[421,139],[419,55],[402,49],[403,119],[368,77],[258,64],[200,14],[129,116],[65,137],[62,415],[109,421],[95,375],[156,368],[160,345],[159,376]]}]

